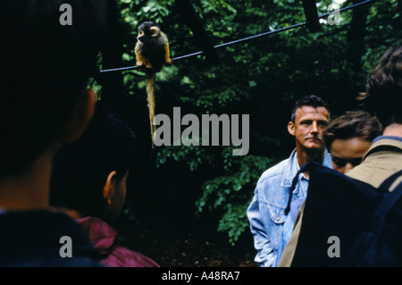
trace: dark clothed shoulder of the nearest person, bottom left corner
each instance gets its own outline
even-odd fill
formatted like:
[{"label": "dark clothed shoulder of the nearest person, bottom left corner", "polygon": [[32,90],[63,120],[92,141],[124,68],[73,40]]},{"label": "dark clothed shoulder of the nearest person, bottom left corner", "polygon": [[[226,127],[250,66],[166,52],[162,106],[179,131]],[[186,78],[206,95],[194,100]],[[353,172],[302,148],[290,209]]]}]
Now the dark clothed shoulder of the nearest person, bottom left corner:
[{"label": "dark clothed shoulder of the nearest person, bottom left corner", "polygon": [[87,234],[67,214],[46,210],[10,211],[0,214],[0,228],[4,230],[0,266],[100,265],[98,252],[90,244]]}]

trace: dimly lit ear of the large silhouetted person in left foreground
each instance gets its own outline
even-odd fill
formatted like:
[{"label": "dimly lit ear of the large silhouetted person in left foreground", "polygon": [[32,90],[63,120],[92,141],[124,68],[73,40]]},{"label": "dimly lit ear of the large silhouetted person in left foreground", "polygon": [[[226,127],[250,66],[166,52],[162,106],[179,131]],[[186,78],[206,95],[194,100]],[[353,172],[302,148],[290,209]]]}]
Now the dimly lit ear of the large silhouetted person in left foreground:
[{"label": "dimly lit ear of the large silhouetted person in left foreground", "polygon": [[90,89],[83,90],[71,113],[70,120],[64,125],[60,142],[70,143],[80,138],[91,121],[96,106],[96,95]]}]

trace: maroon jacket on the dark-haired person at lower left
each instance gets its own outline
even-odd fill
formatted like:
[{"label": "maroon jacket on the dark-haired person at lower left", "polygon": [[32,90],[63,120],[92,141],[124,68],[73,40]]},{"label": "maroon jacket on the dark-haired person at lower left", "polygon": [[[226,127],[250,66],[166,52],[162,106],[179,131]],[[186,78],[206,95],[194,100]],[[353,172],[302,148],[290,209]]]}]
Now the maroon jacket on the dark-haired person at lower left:
[{"label": "maroon jacket on the dark-haired person at lower left", "polygon": [[117,231],[107,222],[96,217],[85,217],[76,219],[94,247],[100,251],[103,259],[101,264],[111,267],[160,267],[152,259],[132,251],[129,248],[115,245]]}]

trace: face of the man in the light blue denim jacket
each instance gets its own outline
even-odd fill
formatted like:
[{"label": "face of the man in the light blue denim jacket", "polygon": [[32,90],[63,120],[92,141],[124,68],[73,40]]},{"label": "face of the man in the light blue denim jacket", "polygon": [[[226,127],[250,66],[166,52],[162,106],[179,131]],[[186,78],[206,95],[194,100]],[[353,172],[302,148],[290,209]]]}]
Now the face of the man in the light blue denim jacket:
[{"label": "face of the man in the light blue denim jacket", "polygon": [[297,149],[323,149],[322,135],[330,121],[330,113],[325,107],[302,106],[297,108],[295,122],[288,123],[288,130],[296,138]]}]

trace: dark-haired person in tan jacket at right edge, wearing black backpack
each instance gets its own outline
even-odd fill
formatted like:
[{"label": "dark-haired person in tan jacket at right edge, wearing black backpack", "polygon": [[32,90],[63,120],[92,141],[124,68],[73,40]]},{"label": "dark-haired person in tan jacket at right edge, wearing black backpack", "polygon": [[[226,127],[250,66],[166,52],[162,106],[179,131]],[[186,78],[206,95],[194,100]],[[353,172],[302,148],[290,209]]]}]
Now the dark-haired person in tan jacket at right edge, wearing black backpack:
[{"label": "dark-haired person in tan jacket at right edge, wearing black backpack", "polygon": [[[382,55],[380,63],[368,77],[366,93],[359,99],[381,123],[382,133],[373,139],[362,163],[346,175],[378,188],[390,175],[402,170],[402,46],[392,47]],[[396,185],[391,186],[390,190]],[[279,264],[281,267],[292,263],[303,226],[303,211],[302,205],[289,243],[284,249]]]}]

